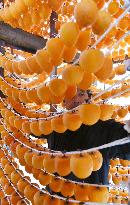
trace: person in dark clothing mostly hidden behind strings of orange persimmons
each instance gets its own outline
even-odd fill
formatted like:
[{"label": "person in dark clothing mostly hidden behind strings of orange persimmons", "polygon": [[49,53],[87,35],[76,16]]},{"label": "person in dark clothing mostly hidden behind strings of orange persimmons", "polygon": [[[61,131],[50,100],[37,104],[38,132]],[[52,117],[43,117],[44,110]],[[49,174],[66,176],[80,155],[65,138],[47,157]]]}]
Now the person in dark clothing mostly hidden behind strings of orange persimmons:
[{"label": "person in dark clothing mostly hidden behind strings of orange persimmons", "polygon": [[[77,95],[72,100],[64,101],[64,106],[67,110],[70,110],[89,101],[91,101],[91,92],[78,90]],[[111,119],[107,121],[99,120],[92,126],[82,124],[76,131],[67,130],[64,133],[53,132],[49,136],[42,135],[40,138],[47,139],[49,149],[64,152],[98,147],[125,138],[129,136],[129,133],[129,121],[124,126],[124,124]],[[93,172],[90,177],[84,180],[78,179],[72,173],[65,178],[91,184],[108,184],[110,159],[115,157],[130,159],[130,143],[102,149],[100,152],[103,156],[103,164],[99,171]]]}]

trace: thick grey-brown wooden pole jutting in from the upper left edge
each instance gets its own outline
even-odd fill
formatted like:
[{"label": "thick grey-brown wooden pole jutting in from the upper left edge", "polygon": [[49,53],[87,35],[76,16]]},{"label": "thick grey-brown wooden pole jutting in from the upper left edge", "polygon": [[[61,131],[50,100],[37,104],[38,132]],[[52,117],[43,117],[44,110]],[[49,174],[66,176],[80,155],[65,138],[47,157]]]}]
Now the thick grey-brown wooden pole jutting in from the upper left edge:
[{"label": "thick grey-brown wooden pole jutting in from the upper left edge", "polygon": [[16,49],[35,53],[38,49],[46,46],[46,39],[35,36],[22,29],[12,28],[10,25],[0,21],[0,44],[13,46]]}]

